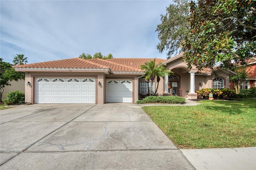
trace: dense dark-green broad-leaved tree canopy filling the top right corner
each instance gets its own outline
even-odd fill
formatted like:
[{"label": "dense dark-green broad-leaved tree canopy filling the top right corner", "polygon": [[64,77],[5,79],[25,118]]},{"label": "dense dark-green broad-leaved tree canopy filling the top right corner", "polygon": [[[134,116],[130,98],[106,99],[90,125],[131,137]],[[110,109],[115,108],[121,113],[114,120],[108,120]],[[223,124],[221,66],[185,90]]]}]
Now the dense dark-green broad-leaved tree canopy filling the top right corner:
[{"label": "dense dark-green broad-leaved tree canopy filling the top right corner", "polygon": [[232,69],[256,54],[256,1],[198,0],[190,3],[191,32],[182,43],[184,61],[199,70],[216,63]]}]

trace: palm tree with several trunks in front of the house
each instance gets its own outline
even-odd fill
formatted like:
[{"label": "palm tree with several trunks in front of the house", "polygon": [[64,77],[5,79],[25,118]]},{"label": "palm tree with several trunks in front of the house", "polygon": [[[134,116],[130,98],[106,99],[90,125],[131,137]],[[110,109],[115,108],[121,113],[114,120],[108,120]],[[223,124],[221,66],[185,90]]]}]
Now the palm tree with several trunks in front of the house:
[{"label": "palm tree with several trunks in front of the house", "polygon": [[[145,76],[145,79],[147,80],[147,83],[149,83],[149,80],[151,80],[151,82],[153,83],[156,79],[157,87],[154,95],[156,95],[160,77],[164,76],[166,73],[167,74],[171,73],[171,71],[166,69],[162,63],[159,63],[156,65],[156,58],[154,58],[154,60],[152,61],[147,61],[143,65],[140,65],[140,68],[144,70],[144,76]],[[150,90],[148,91],[149,95],[151,95],[151,91],[152,91],[152,85],[150,87]]]}]

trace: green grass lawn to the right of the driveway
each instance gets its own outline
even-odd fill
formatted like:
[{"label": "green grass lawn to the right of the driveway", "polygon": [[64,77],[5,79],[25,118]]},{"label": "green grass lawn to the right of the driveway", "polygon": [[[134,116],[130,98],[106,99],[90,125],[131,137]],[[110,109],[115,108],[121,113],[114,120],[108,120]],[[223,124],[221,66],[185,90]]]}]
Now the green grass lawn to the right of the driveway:
[{"label": "green grass lawn to the right of the driveway", "polygon": [[256,99],[143,107],[179,148],[256,146]]}]

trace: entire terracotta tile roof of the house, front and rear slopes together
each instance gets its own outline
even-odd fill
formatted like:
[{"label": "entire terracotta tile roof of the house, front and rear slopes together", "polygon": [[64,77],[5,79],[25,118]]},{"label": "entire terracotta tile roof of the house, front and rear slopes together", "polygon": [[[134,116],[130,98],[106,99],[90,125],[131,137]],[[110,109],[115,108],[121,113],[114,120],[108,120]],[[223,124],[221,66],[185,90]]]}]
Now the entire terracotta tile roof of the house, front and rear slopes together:
[{"label": "entire terracotta tile roof of the house, front and rear slopes together", "polygon": [[[25,65],[15,65],[16,69],[110,69],[111,72],[142,72],[140,65],[152,59],[62,59],[56,61],[46,61]],[[157,62],[164,59],[157,59]],[[126,64],[127,63],[127,64]],[[130,64],[128,64],[130,63]],[[134,65],[133,63],[136,63]]]}]

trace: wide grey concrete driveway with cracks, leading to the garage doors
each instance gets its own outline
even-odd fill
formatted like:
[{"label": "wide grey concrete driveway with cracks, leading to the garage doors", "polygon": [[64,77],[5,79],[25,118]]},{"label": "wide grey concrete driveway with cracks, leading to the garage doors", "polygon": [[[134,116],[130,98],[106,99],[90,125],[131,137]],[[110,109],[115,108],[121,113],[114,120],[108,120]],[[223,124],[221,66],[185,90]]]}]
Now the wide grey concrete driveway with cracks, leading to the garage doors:
[{"label": "wide grey concrete driveway with cracks, leading to the garage doors", "polygon": [[0,169],[194,169],[134,103],[0,111]]}]

